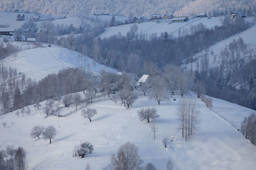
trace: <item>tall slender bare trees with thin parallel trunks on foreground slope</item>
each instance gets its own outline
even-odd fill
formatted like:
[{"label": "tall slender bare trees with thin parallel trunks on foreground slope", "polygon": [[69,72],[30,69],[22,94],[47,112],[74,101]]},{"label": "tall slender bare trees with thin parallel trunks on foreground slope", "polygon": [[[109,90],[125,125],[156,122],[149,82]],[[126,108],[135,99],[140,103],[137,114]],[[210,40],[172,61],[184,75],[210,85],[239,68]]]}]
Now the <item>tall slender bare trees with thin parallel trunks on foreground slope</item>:
[{"label": "tall slender bare trees with thin parallel trunks on foreground slope", "polygon": [[199,124],[200,111],[196,106],[195,99],[181,99],[177,107],[179,117],[179,130],[182,132],[182,138],[187,139],[193,135]]}]

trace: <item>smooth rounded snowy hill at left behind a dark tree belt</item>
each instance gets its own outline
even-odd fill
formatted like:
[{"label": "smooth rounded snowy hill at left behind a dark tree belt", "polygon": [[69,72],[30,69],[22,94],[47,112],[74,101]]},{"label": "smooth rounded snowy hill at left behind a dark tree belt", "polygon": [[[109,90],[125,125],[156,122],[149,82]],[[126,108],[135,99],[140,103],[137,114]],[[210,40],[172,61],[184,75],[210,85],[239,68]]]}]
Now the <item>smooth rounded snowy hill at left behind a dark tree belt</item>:
[{"label": "smooth rounded snowy hill at left behind a dark tree belt", "polygon": [[102,69],[116,72],[110,67],[98,64],[81,53],[61,47],[40,47],[23,50],[3,59],[4,66],[16,68],[32,80],[41,80],[49,73],[58,73],[65,67],[84,67],[99,73]]}]

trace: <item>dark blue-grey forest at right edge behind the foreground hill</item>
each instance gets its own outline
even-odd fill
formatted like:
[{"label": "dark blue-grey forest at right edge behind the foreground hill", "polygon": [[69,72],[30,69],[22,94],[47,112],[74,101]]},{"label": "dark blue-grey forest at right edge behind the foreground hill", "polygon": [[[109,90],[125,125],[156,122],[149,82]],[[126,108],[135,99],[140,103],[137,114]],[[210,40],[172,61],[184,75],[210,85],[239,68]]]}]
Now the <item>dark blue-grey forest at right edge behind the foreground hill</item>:
[{"label": "dark blue-grey forest at right edge behind the foreground hill", "polygon": [[256,110],[256,60],[243,60],[230,66],[227,74],[223,66],[196,71],[196,79],[205,84],[206,94]]}]

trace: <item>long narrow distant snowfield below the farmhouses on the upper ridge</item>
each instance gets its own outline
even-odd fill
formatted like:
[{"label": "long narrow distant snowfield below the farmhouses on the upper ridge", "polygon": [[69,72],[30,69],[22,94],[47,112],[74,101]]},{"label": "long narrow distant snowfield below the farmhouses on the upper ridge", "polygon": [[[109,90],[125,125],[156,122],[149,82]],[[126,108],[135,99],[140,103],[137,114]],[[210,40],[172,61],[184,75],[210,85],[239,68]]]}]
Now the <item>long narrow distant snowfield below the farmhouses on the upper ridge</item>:
[{"label": "long narrow distant snowfield below the farmhouses on the upper ridge", "polygon": [[[138,34],[148,34],[150,36],[151,34],[156,34],[157,36],[160,36],[163,32],[168,32],[169,34],[173,34],[173,37],[179,36],[179,30],[182,34],[182,30],[187,30],[189,32],[189,27],[191,25],[197,25],[197,24],[204,24],[205,27],[211,29],[216,25],[221,25],[221,18],[223,17],[212,17],[210,19],[208,18],[191,18],[188,22],[178,22],[178,23],[172,23],[170,24],[170,21],[168,20],[160,20],[159,23],[157,21],[152,22],[143,22],[138,25]],[[104,31],[100,38],[108,38],[109,36],[117,35],[118,32],[120,32],[123,36],[126,36],[127,32],[130,31],[131,26],[133,24],[125,24],[125,25],[118,25],[116,27],[108,27],[106,31]],[[185,32],[185,34],[188,34]]]}]

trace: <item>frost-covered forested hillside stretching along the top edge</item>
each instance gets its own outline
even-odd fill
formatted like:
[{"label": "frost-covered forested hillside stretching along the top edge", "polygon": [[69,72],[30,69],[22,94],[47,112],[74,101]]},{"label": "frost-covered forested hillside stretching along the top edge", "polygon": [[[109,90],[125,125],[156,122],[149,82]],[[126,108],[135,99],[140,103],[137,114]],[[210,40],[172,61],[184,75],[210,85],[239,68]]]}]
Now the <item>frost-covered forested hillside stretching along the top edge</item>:
[{"label": "frost-covered forested hillside stretching along the top edge", "polygon": [[[254,7],[252,7],[254,6]],[[51,15],[82,15],[94,12],[119,13],[123,15],[170,14],[191,15],[193,13],[230,10],[254,10],[254,0],[0,0],[0,10],[24,10]],[[253,8],[253,9],[252,9]]]}]

